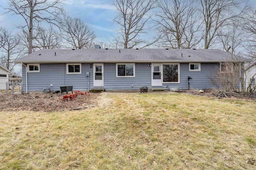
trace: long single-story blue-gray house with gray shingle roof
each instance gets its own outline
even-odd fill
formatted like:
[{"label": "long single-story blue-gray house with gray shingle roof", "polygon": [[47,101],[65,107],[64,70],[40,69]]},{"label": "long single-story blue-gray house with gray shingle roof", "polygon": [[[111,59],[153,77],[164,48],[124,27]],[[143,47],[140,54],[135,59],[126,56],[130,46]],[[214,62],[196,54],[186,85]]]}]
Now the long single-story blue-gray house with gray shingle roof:
[{"label": "long single-story blue-gray house with gray shingle roof", "polygon": [[[211,89],[208,76],[232,55],[218,49],[41,49],[20,59],[23,91],[101,88]],[[250,61],[241,58],[242,61]]]}]

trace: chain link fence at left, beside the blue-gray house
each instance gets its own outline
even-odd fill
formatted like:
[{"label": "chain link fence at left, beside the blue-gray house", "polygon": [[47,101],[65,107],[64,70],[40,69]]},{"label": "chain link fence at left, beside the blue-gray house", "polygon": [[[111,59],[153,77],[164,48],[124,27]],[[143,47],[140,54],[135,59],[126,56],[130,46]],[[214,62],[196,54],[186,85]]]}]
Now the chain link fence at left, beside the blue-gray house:
[{"label": "chain link fence at left, beside the blue-gray house", "polygon": [[0,82],[0,94],[21,94],[22,82]]}]

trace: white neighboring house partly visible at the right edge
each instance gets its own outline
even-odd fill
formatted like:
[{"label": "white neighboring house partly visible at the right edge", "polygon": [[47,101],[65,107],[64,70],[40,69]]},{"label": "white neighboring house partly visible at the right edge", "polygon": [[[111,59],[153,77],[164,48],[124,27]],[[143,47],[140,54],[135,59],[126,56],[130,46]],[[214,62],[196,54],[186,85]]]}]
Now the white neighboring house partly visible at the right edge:
[{"label": "white neighboring house partly visible at the right edge", "polygon": [[248,66],[244,69],[244,79],[246,89],[249,87],[249,85],[251,89],[256,86],[256,61],[248,64]]}]

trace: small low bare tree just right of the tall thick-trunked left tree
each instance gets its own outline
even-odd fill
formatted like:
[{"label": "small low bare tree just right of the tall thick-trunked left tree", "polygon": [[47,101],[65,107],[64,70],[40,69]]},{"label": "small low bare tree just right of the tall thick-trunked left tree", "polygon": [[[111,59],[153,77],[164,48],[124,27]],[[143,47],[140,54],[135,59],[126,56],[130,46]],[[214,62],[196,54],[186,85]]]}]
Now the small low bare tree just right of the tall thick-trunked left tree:
[{"label": "small low bare tree just right of the tall thick-trunked left tree", "polygon": [[36,49],[60,48],[60,34],[56,32],[52,27],[38,28],[37,36],[34,40],[34,48]]}]

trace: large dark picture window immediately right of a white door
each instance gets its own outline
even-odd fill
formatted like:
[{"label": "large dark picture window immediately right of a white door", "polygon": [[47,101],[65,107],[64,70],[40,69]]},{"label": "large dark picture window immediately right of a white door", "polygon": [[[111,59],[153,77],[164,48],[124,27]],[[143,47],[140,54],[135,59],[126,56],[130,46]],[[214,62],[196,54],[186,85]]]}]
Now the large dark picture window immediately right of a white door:
[{"label": "large dark picture window immediately right of a white door", "polygon": [[178,82],[178,64],[163,65],[163,81]]}]

